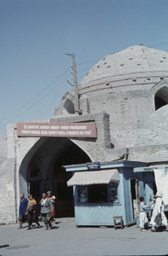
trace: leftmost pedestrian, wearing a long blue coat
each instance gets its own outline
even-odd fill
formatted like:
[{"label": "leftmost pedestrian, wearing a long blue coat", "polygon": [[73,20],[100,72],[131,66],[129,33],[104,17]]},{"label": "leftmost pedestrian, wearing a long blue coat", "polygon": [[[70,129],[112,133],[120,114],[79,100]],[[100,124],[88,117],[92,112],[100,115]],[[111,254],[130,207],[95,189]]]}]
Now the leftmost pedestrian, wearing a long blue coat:
[{"label": "leftmost pedestrian, wearing a long blue coat", "polygon": [[20,209],[19,209],[19,221],[20,221],[19,229],[22,229],[22,224],[27,219],[25,216],[27,205],[28,205],[28,200],[25,198],[25,195],[23,193],[21,193],[20,194]]}]

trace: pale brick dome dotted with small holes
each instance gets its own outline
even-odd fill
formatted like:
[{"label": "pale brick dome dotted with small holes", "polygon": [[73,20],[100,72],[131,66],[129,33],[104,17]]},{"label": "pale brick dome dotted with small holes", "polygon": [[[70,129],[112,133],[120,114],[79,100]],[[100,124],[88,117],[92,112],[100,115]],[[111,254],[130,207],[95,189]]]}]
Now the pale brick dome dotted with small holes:
[{"label": "pale brick dome dotted with small holes", "polygon": [[163,78],[168,78],[168,53],[135,45],[98,61],[82,79],[79,93],[105,93],[116,87],[132,90],[135,84],[156,84]]}]

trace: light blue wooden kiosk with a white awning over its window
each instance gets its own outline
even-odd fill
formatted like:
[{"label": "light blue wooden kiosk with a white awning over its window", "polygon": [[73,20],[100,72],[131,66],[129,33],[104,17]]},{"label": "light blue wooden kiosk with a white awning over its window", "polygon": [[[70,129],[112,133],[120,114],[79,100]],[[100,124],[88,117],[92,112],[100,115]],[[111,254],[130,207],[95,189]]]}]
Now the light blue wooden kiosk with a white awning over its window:
[{"label": "light blue wooden kiosk with a white awning over its window", "polygon": [[129,160],[64,166],[73,172],[67,184],[74,187],[76,226],[113,226],[115,217],[122,217],[124,225],[135,224],[139,197],[154,194],[152,172],[148,178],[133,172],[144,166],[148,164]]}]

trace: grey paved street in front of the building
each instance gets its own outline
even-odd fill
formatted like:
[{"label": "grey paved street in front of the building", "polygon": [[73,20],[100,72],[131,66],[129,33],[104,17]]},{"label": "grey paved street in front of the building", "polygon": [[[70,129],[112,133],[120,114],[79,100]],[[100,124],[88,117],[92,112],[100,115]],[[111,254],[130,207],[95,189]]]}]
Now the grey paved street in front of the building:
[{"label": "grey paved street in front of the building", "polygon": [[[41,223],[42,224],[42,223]],[[42,224],[43,226],[43,224]],[[166,255],[168,232],[76,228],[75,218],[59,218],[52,230],[0,226],[0,255]]]}]

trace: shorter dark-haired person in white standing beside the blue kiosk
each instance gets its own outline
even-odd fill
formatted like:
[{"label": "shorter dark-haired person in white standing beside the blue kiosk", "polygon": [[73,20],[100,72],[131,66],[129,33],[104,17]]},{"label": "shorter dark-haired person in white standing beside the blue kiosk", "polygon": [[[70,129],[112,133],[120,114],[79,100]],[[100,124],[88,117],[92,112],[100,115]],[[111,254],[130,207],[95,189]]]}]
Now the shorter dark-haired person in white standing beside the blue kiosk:
[{"label": "shorter dark-haired person in white standing beside the blue kiosk", "polygon": [[147,218],[147,206],[145,205],[145,201],[143,196],[140,197],[140,213],[139,213],[139,226],[141,228],[141,231],[146,231],[144,226],[148,223]]}]

